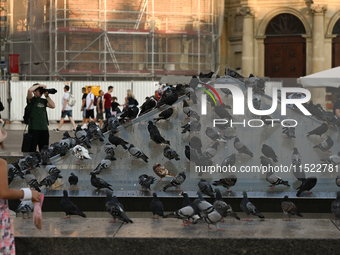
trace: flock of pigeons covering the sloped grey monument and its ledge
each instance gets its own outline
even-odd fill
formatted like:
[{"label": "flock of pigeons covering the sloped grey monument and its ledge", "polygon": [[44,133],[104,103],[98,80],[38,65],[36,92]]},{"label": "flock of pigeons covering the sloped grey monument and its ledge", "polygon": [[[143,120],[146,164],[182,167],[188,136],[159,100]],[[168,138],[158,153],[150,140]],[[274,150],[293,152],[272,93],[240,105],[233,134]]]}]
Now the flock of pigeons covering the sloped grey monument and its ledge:
[{"label": "flock of pigeons covering the sloped grey monument and its ledge", "polygon": [[[90,173],[91,175],[91,185],[95,187],[97,190],[100,189],[109,189],[113,191],[112,185],[107,183],[102,178],[99,178],[97,175],[101,173],[102,170],[108,169],[111,166],[111,162],[116,160],[115,158],[115,148],[121,146],[123,149],[127,150],[131,156],[136,159],[141,159],[144,162],[148,163],[148,156],[137,146],[125,141],[120,138],[117,133],[117,128],[126,123],[128,120],[136,118],[138,116],[142,116],[147,112],[150,112],[153,109],[157,109],[163,105],[170,106],[169,108],[160,112],[157,118],[150,119],[148,121],[148,132],[150,135],[150,139],[156,143],[156,146],[159,144],[165,144],[163,155],[169,160],[180,160],[180,155],[171,148],[170,141],[165,140],[165,138],[161,135],[156,123],[158,121],[168,121],[171,118],[174,110],[171,107],[175,102],[177,102],[180,96],[188,96],[189,100],[193,105],[197,104],[197,96],[196,89],[199,84],[204,84],[206,79],[211,78],[211,74],[201,75],[199,78],[193,77],[189,85],[178,84],[176,87],[168,86],[165,88],[164,93],[160,100],[157,102],[155,96],[147,97],[144,104],[139,109],[129,109],[124,112],[120,117],[110,117],[107,121],[104,121],[103,128],[100,129],[95,123],[91,122],[88,124],[87,129],[81,129],[80,125],[77,127],[75,132],[75,137],[71,137],[69,133],[66,131],[63,134],[60,142],[56,142],[52,145],[45,146],[41,153],[35,152],[28,154],[26,157],[19,159],[15,164],[8,164],[8,181],[11,183],[15,176],[19,176],[27,182],[27,184],[38,191],[42,186],[46,188],[52,187],[52,185],[57,181],[58,178],[62,178],[60,175],[60,170],[49,163],[49,159],[55,155],[65,156],[67,151],[71,150],[74,157],[78,160],[87,160],[91,159],[90,152],[88,149],[91,148],[91,139],[98,139],[99,141],[104,143],[105,137],[103,133],[109,132],[108,141],[109,143],[104,144],[104,151],[106,157],[101,160],[101,162],[97,165],[97,167]],[[253,104],[256,109],[261,108],[261,95],[264,92],[264,82],[261,79],[250,76],[246,82],[247,86],[253,87]],[[223,93],[225,93],[226,97],[231,94],[228,89],[221,89]],[[214,108],[214,112],[218,115],[218,117],[223,119],[232,119],[233,116],[228,112],[227,109],[231,107],[225,105],[224,103],[221,106],[215,105],[212,99],[208,100],[211,106]],[[309,104],[311,105],[311,104]],[[312,104],[313,105],[313,104]],[[312,107],[309,106],[309,107]],[[319,109],[319,108],[318,108]],[[190,122],[183,125],[181,128],[182,134],[189,132],[197,132],[201,130],[200,124],[200,116],[197,112],[189,105],[187,100],[183,100],[183,113],[190,118]],[[326,114],[327,115],[327,114]],[[327,115],[328,116],[328,115]],[[329,116],[328,116],[329,117]],[[261,116],[261,119],[264,121],[266,126],[270,126],[270,124],[274,125],[275,121],[270,121],[272,119],[270,116]],[[334,121],[333,121],[334,122]],[[227,124],[219,124],[216,125],[220,130],[226,130],[230,128],[230,122]],[[333,123],[334,124],[334,123]],[[321,137],[322,134],[326,133],[328,130],[328,124],[323,123],[320,127],[309,131],[307,136],[310,135],[318,135]],[[295,128],[294,127],[284,127],[283,133],[287,135],[288,138],[295,138]],[[200,166],[210,166],[213,164],[212,158],[217,154],[218,146],[220,143],[227,143],[227,140],[234,139],[234,148],[238,151],[239,154],[245,154],[249,157],[254,157],[253,152],[251,152],[247,146],[240,141],[240,139],[236,136],[225,136],[216,131],[214,128],[207,127],[205,134],[209,137],[213,144],[202,151],[202,141],[197,136],[192,136],[189,142],[189,145],[185,146],[184,154],[186,158]],[[328,151],[334,142],[330,136],[327,137],[326,140],[322,141],[320,144],[315,145],[314,148],[320,149],[322,151]],[[261,152],[264,156],[260,157],[260,162],[262,166],[273,166],[272,162],[278,162],[278,157],[275,154],[275,151],[272,147],[263,144],[261,148]],[[299,169],[299,171],[294,171],[294,175],[298,181],[301,182],[301,185],[298,187],[297,196],[300,196],[304,191],[310,191],[317,183],[316,177],[306,178],[305,172],[301,167],[301,155],[298,149],[295,147],[292,152],[292,164]],[[340,152],[337,155],[331,155],[327,159],[324,160],[327,164],[337,166],[340,164]],[[236,154],[225,158],[222,162],[222,166],[234,166],[236,163]],[[45,170],[49,174],[47,177],[42,179],[40,182],[36,179],[36,177],[31,173],[31,169],[34,167],[38,167],[40,165],[45,165]],[[166,167],[162,166],[160,163],[156,162],[153,164],[154,173],[160,177],[160,180],[164,177],[172,177],[169,184],[163,187],[163,191],[171,187],[175,187],[180,190],[181,184],[186,180],[186,174],[184,171],[174,174],[171,173]],[[70,185],[77,185],[78,177],[71,173],[69,177]],[[270,187],[274,188],[276,185],[285,185],[289,186],[288,181],[284,181],[280,178],[275,172],[268,171],[266,175],[266,180],[270,183]],[[146,173],[142,174],[138,178],[138,182],[141,185],[142,189],[150,189],[150,186],[156,181],[156,178],[148,175]],[[229,175],[225,178],[221,178],[220,180],[214,181],[214,186],[223,186],[226,189],[234,186],[237,182],[237,177],[235,175]],[[336,179],[336,184],[340,186],[340,176]],[[232,216],[236,219],[239,217],[232,210],[230,205],[227,205],[221,196],[221,192],[219,189],[213,190],[209,182],[204,179],[201,179],[198,183],[199,190],[198,191],[198,199],[194,202],[191,202],[187,197],[185,192],[182,192],[184,196],[183,208],[180,210],[169,214],[163,215],[163,206],[159,199],[157,198],[157,194],[153,193],[153,200],[151,202],[151,210],[154,215],[159,215],[161,217],[169,218],[175,217],[183,220],[183,224],[186,223],[196,223],[198,220],[204,220],[208,224],[216,225],[218,227],[218,223],[226,216]],[[70,215],[80,215],[82,217],[86,217],[84,213],[82,213],[77,206],[75,206],[70,199],[68,198],[68,193],[65,190],[64,196],[61,200],[61,207],[65,211],[66,216]],[[213,205],[208,203],[202,197],[203,194],[215,198],[215,202]],[[241,209],[247,214],[247,218],[249,215],[256,215],[260,218],[264,218],[263,215],[256,209],[256,207],[249,202],[247,198],[247,194],[243,193],[244,198],[240,205]],[[340,198],[338,196],[337,202],[332,204],[332,211],[335,213],[336,217],[340,217]],[[18,208],[18,212],[24,212],[27,207],[29,207],[28,202],[22,202]],[[32,206],[33,207],[33,206]],[[113,216],[114,220],[116,218],[122,220],[126,223],[132,223],[132,221],[127,217],[124,212],[124,207],[118,202],[117,197],[112,196],[111,192],[107,192],[107,200],[105,205],[107,211]],[[282,209],[287,215],[297,215],[302,216],[297,210],[296,206],[289,201],[288,197],[285,197],[282,202]]]}]

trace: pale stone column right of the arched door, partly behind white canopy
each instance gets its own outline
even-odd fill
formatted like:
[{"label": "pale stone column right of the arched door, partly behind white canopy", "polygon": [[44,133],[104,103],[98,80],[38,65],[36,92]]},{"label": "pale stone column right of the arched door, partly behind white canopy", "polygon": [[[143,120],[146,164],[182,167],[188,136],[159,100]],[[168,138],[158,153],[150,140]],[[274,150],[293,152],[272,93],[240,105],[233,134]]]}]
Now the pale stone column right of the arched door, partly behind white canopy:
[{"label": "pale stone column right of the arched door, partly behind white canopy", "polygon": [[[313,13],[313,57],[312,73],[325,70],[325,25],[324,14],[327,10],[326,5],[311,5]],[[311,89],[313,103],[320,103],[325,108],[325,88]]]}]

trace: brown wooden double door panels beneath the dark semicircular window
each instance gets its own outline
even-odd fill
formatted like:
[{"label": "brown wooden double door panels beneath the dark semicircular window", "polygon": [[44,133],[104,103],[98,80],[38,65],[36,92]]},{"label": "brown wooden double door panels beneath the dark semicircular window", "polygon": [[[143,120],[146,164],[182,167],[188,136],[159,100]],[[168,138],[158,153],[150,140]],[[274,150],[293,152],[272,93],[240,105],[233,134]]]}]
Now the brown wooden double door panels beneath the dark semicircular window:
[{"label": "brown wooden double door panels beneath the dark semicircular window", "polygon": [[306,40],[301,36],[267,37],[265,76],[299,78],[306,75]]}]

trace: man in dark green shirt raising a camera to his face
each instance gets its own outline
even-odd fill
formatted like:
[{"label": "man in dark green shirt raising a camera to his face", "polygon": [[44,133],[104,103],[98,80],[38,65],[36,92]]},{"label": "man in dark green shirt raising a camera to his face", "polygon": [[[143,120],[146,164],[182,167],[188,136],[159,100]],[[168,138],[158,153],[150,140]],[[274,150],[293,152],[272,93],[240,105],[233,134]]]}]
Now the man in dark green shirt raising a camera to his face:
[{"label": "man in dark green shirt raising a camera to his face", "polygon": [[[42,84],[34,84],[27,91],[27,104],[33,107],[28,122],[28,133],[32,135],[31,152],[36,151],[37,145],[39,151],[44,145],[49,145],[50,134],[48,132],[46,107],[54,109],[55,105],[48,93],[46,85]],[[42,95],[46,99],[41,98]]]}]

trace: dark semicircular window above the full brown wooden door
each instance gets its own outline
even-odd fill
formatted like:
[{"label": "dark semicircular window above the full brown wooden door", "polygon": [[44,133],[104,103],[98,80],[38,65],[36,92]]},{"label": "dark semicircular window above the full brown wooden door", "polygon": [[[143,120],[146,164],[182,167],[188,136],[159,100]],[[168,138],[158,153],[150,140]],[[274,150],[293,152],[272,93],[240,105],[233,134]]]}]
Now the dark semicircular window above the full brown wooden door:
[{"label": "dark semicircular window above the full brown wooden door", "polygon": [[275,16],[266,29],[267,36],[306,34],[302,22],[294,15],[283,13]]}]

